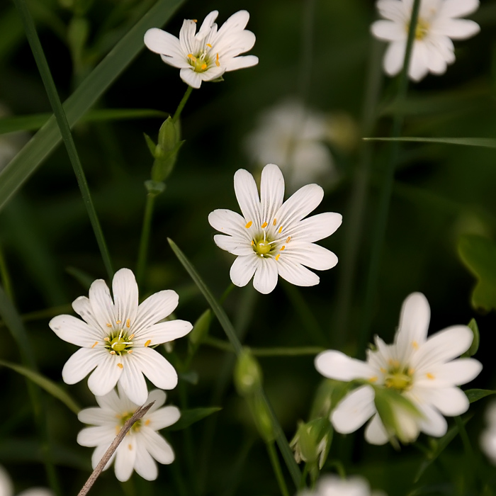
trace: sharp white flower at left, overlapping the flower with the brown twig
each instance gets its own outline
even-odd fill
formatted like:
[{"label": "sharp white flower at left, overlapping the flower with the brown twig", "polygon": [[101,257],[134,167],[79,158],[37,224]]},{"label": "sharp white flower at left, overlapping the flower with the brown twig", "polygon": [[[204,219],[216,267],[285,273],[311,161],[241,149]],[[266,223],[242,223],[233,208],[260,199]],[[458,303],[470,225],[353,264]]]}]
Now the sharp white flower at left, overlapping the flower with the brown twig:
[{"label": "sharp white flower at left, overlapping the flower with the brown twig", "polygon": [[[50,327],[58,337],[81,346],[62,369],[62,378],[74,384],[91,371],[88,387],[96,396],[106,395],[119,383],[137,405],[147,399],[143,374],[157,388],[173,389],[177,373],[164,357],[150,346],[183,337],[191,331],[185,320],[159,322],[174,311],[179,296],[175,291],[154,293],[138,306],[135,276],[120,269],[113,276],[113,301],[103,279],[89,288],[89,298],[79,296],[72,303],[72,315],[58,315]],[[157,323],[159,322],[159,323]]]}]

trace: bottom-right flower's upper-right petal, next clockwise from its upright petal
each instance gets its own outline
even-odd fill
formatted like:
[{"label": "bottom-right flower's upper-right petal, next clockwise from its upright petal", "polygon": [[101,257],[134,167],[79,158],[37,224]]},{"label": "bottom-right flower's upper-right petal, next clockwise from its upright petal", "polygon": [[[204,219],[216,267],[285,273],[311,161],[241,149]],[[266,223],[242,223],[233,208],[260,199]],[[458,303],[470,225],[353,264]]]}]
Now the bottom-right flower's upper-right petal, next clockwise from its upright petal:
[{"label": "bottom-right flower's upper-right petal, next clockwise from its upright petal", "polygon": [[472,339],[472,331],[466,325],[456,325],[436,332],[419,347],[412,358],[412,367],[424,370],[437,363],[450,361],[467,351]]}]

